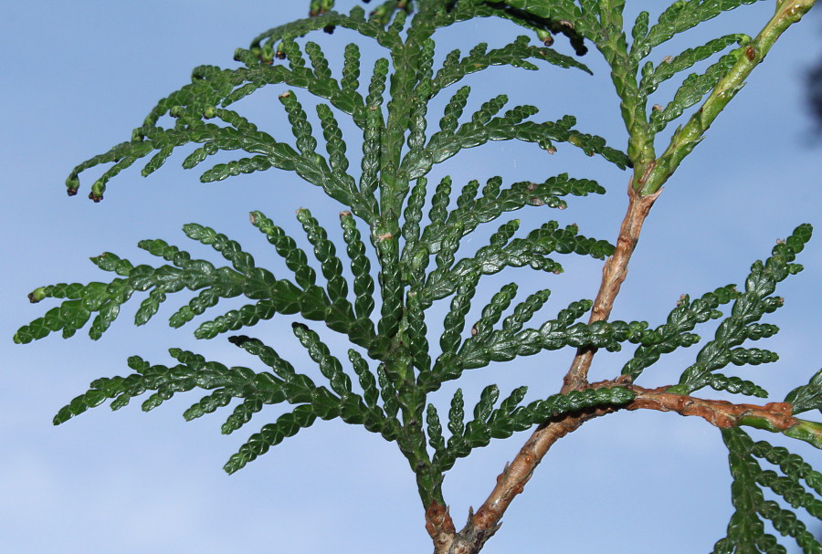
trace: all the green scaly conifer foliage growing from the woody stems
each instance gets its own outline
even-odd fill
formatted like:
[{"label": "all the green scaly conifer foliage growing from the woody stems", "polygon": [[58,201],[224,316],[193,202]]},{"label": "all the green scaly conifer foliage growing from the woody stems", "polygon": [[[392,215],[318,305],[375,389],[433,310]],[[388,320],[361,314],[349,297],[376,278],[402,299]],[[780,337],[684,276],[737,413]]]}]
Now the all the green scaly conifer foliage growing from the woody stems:
[{"label": "all the green scaly conifer foliage growing from the woody stems", "polygon": [[[700,343],[701,338],[692,331],[711,319],[723,318],[714,339],[701,347],[679,384],[666,392],[686,396],[710,387],[766,397],[767,392],[754,382],[717,371],[729,364],[756,365],[776,360],[774,352],[744,347],[743,343],[766,339],[777,332],[775,325],[760,320],[782,304],[781,298],[773,296],[776,284],[802,269],[794,260],[810,238],[810,225],[797,227],[793,235],[775,246],[771,257],[756,262],[743,291],[729,285],[692,301],[683,295],[665,323],[656,328],[644,321],[606,321],[599,317],[584,323],[580,319],[595,306],[594,301],[586,299],[557,309],[552,317],[527,328],[526,324],[546,307],[551,290],[533,291],[514,304],[519,287],[511,282],[490,299],[482,299],[479,319],[466,332],[472,302],[485,296],[480,287],[483,277],[509,267],[526,266],[553,276],[564,271],[558,261],[560,256],[599,260],[615,256],[617,248],[608,241],[583,235],[577,225],[563,227],[547,214],[543,225],[522,233],[520,220],[504,219],[526,206],[565,209],[567,197],[601,194],[605,188],[567,173],[542,182],[504,183],[501,177],[491,177],[481,189],[479,180],[454,183],[450,176],[444,176],[436,186],[428,186],[434,166],[459,152],[489,141],[518,140],[551,153],[569,144],[618,169],[632,168],[634,192],[640,196],[659,191],[681,159],[701,140],[711,117],[742,87],[741,79],[746,75],[743,65],[746,59],[750,61],[750,52],[744,48],[761,47],[762,43],[757,42],[759,38],[729,34],[665,57],[658,64],[648,61],[641,69],[640,64],[670,38],[724,11],[753,2],[679,0],[664,10],[654,25],[643,12],[630,30],[632,42],[628,45],[623,28],[624,2],[617,0],[391,0],[377,5],[370,16],[360,6],[345,15],[332,9],[332,0],[313,0],[311,17],[271,28],[249,48],[238,48],[235,59],[239,67],[195,68],[192,82],[161,99],[132,132],[130,141],[80,163],[68,176],[68,193],[78,192],[80,173],[97,166],[105,169],[90,187],[90,197],[96,202],[102,199],[111,178],[150,155],[143,175],[158,170],[175,151],[189,144],[195,148],[184,158],[186,169],[195,168],[217,152],[241,151],[241,157],[205,170],[201,180],[216,182],[269,169],[297,173],[342,204],[340,225],[347,259],[343,263],[326,228],[304,208],[297,213],[305,234],[300,240],[260,212],[250,217],[251,224],[284,260],[292,274],[288,277],[277,277],[271,270],[258,267],[254,256],[227,235],[205,225],[184,225],[185,235],[214,248],[228,264],[216,266],[193,259],[188,252],[161,239],[142,241],[139,246],[163,258],[163,265],[135,266],[110,253],[94,257],[92,262],[97,267],[117,277],[110,282],[37,288],[29,295],[32,302],[46,298],[63,301],[19,329],[16,342],[42,339],[56,331],[68,338],[89,322],[90,337],[98,340],[134,293],[147,293],[134,317],[135,324],[142,325],[153,318],[169,295],[186,289],[196,294],[171,315],[173,328],[202,316],[221,299],[244,297],[250,303],[200,323],[195,337],[214,339],[228,331],[258,325],[277,314],[299,315],[345,336],[355,347],[347,352],[350,366],[332,353],[320,332],[298,321],[292,326],[296,340],[318,365],[327,387],[296,371],[262,341],[245,335],[231,336],[231,343],[256,356],[265,369],[229,368],[178,349],[170,350],[178,362],[173,367],[151,365],[133,356],[128,361],[132,374],[92,382],[88,392],[59,411],[55,423],[65,423],[107,401],[111,401],[112,409],[119,409],[147,392],[151,394],[142,409],[149,411],[177,392],[199,388],[209,392],[184,412],[185,419],[213,413],[237,401],[222,426],[223,433],[229,434],[248,423],[265,405],[289,403],[290,411],[263,425],[231,456],[225,466],[228,473],[236,472],[318,419],[340,418],[395,442],[416,474],[423,505],[430,507],[432,503],[445,506],[441,486],[458,458],[490,444],[491,439],[508,438],[553,417],[593,413],[597,408],[609,413],[625,407],[638,394],[632,383],[662,354]],[[530,35],[490,50],[486,43],[480,43],[466,56],[453,50],[435,67],[435,31],[474,17],[490,16],[511,21]],[[321,47],[303,39],[311,32],[331,32],[334,27],[349,29],[382,48],[385,57],[376,59],[370,75],[364,75],[368,69],[362,67],[358,45],[344,47],[341,74],[336,78],[335,68]],[[479,110],[464,117],[471,93],[468,86],[448,91],[437,131],[428,129],[434,120],[428,112],[432,99],[468,75],[492,66],[535,70],[547,64],[590,73],[574,57],[553,50],[554,35],[567,37],[578,55],[585,53],[587,42],[606,58],[621,101],[627,152],[608,146],[600,136],[576,129],[574,116],[556,114],[555,120],[536,121],[532,120],[538,113],[534,106],[505,110],[509,99],[504,93],[491,96]],[[542,44],[532,45],[533,37]],[[734,44],[739,47],[726,52]],[[684,78],[664,106],[648,110],[648,99],[661,83],[717,56],[704,71]],[[290,136],[285,139],[258,130],[256,124],[229,109],[268,86],[279,88],[279,104],[290,123]],[[300,89],[300,95],[293,89]],[[300,103],[298,98],[303,94],[321,99],[316,105],[316,117]],[[669,149],[658,157],[655,136],[703,99],[701,108],[694,111],[685,127],[675,131]],[[171,127],[160,124],[164,116],[174,120]],[[356,134],[362,131],[359,172],[353,171],[348,158],[351,137],[346,141],[342,129],[352,127],[341,124],[345,118],[358,130]],[[319,122],[319,128],[311,121]],[[477,231],[479,225],[498,219],[502,221],[489,244],[467,252],[469,241],[465,237]],[[367,240],[360,229],[364,229]],[[298,246],[300,242],[311,246],[315,261],[309,260]],[[318,283],[318,272],[322,283]],[[551,277],[544,278],[547,283]],[[439,350],[435,351],[427,318],[437,301],[445,299],[449,309],[437,341]],[[378,317],[374,316],[377,304]],[[730,314],[724,316],[720,308],[729,304]],[[564,389],[528,403],[523,403],[527,392],[524,386],[515,388],[498,403],[500,390],[489,384],[480,393],[468,422],[465,397],[457,389],[448,410],[448,436],[431,402],[435,400],[433,393],[444,382],[458,380],[464,371],[486,368],[492,362],[567,347],[581,353],[613,352],[626,343],[636,348],[618,379],[615,375],[605,384],[587,385],[583,390]],[[352,377],[356,377],[356,385]],[[794,413],[822,411],[822,371],[790,392],[786,402],[793,405]],[[796,422],[788,429],[776,429],[755,418],[741,424],[781,431],[817,447],[822,444],[822,425]],[[728,537],[717,543],[714,551],[785,551],[775,538],[764,534],[762,517],[780,533],[796,538],[806,552],[822,551],[794,514],[764,500],[761,490],[768,487],[792,507],[803,507],[811,516],[819,517],[822,503],[803,485],[818,495],[822,486],[819,474],[784,449],[762,442],[754,444],[736,427],[723,429],[722,434],[731,452],[736,513]],[[763,471],[755,458],[778,465],[785,476]]]}]

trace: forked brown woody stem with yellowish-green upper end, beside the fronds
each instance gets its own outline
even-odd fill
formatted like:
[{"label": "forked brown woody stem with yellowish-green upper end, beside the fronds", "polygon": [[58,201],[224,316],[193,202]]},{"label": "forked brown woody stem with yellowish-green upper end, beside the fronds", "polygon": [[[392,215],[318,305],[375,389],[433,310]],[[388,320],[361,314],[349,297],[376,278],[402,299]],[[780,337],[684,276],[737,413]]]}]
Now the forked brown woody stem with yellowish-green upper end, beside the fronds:
[{"label": "forked brown woody stem with yellowish-green upper end, beside the fronds", "polygon": [[[689,122],[674,133],[669,149],[659,159],[648,164],[635,165],[636,183],[628,186],[627,214],[622,222],[617,238],[617,250],[614,256],[606,261],[603,268],[602,283],[596,295],[594,308],[589,323],[608,319],[619,288],[627,276],[628,262],[637,246],[639,232],[654,201],[662,191],[670,174],[674,172],[681,160],[693,150],[702,135],[711,125],[720,111],[743,87],[744,78],[762,61],[762,58],[773,46],[788,26],[796,23],[816,0],[779,0],[775,16],[764,27],[763,31],[748,45],[740,55],[733,68],[717,84],[700,110]],[[608,383],[588,383],[588,370],[594,358],[594,348],[577,350],[571,368],[564,377],[562,392],[583,390],[590,387],[608,386]],[[611,382],[610,384],[626,384]],[[751,404],[733,404],[731,402],[707,401],[664,392],[664,390],[646,390],[631,386],[638,393],[637,397],[622,406],[627,410],[659,410],[677,412],[682,415],[698,415],[718,427],[730,427],[753,421],[757,425],[773,430],[798,429],[799,421],[791,415],[791,406],[784,402],[774,402],[764,406]],[[476,514],[469,514],[465,528],[454,534],[454,524],[443,507],[444,516],[440,516],[438,507],[431,507],[427,512],[427,528],[435,538],[435,554],[476,554],[482,549],[485,541],[500,526],[500,520],[513,497],[522,492],[531,478],[534,468],[542,461],[548,449],[565,434],[572,433],[587,420],[598,415],[616,411],[617,407],[601,407],[582,413],[565,414],[543,423],[522,446],[519,454],[511,464],[506,465],[497,478],[497,485],[490,497],[479,507]],[[804,439],[803,439],[804,440]],[[429,515],[430,513],[430,515]],[[444,517],[439,521],[438,517]],[[439,523],[437,523],[437,521]],[[435,537],[435,532],[437,536]]]}]

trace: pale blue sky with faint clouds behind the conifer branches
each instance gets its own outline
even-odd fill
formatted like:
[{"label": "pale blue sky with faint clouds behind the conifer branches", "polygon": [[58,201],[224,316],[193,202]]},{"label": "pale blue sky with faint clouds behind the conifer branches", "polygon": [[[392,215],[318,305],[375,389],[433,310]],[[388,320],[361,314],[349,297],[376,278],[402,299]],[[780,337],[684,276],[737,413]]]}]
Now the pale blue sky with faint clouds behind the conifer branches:
[{"label": "pale blue sky with faint clouds behind the conifer branches", "polygon": [[[348,5],[341,2],[343,9]],[[655,59],[728,32],[754,35],[774,5],[767,0],[743,6],[671,41]],[[20,325],[55,305],[47,301],[32,307],[26,293],[40,285],[107,278],[110,274],[103,275],[88,261],[102,251],[141,262],[152,258],[136,248],[137,241],[163,237],[199,256],[219,259],[182,235],[180,227],[185,223],[195,221],[227,233],[253,252],[261,265],[274,256],[248,225],[250,210],[262,210],[300,236],[294,210],[310,207],[336,236],[341,206],[285,172],[201,184],[198,173],[180,169],[183,156],[178,154],[150,179],[142,179],[136,168],[121,174],[110,183],[101,204],[86,200],[91,178],[85,179],[74,198],[66,196],[63,185],[76,163],[127,140],[157,99],[188,81],[191,68],[233,66],[235,47],[248,46],[251,38],[270,26],[304,16],[307,6],[302,0],[242,4],[44,0],[0,5],[4,52],[0,94],[5,107],[0,132],[0,180],[5,191],[0,218],[4,237],[0,335],[5,337],[0,341],[0,550],[12,554],[416,554],[431,550],[405,459],[395,444],[360,427],[315,423],[229,477],[221,469],[227,457],[249,434],[272,421],[279,407],[260,413],[228,437],[219,434],[227,410],[194,423],[183,421],[181,413],[199,399],[196,393],[182,394],[150,414],[139,410],[139,402],[132,402],[135,405],[118,413],[100,407],[60,427],[51,425],[58,408],[83,392],[90,381],[127,374],[125,360],[132,354],[168,364],[172,359],[167,349],[180,347],[210,360],[261,370],[225,337],[203,343],[192,337],[195,325],[178,330],[166,326],[174,306],[190,296],[170,299],[155,319],[137,330],[130,318],[138,302],[132,301],[135,306],[126,309],[97,342],[84,331],[72,340],[51,336],[27,346],[11,340]],[[639,9],[655,14],[659,6],[629,2],[627,20]],[[751,262],[768,256],[775,239],[785,237],[796,225],[809,222],[822,229],[820,151],[818,143],[811,141],[803,89],[806,69],[822,47],[820,25],[822,19],[811,14],[788,32],[671,179],[648,219],[614,318],[659,325],[680,294],[695,297],[741,283]],[[519,27],[500,22],[455,26],[435,37],[441,47],[437,59],[453,47],[467,52],[479,40],[499,47],[519,34]],[[332,69],[339,71],[334,60],[352,37],[338,31],[332,37],[317,34],[312,39],[325,47]],[[568,51],[563,38],[557,40],[557,47]],[[364,59],[373,59],[375,52],[369,47]],[[626,133],[618,118],[617,98],[599,54],[592,52],[583,61],[595,69],[595,77],[553,67],[538,73],[491,68],[466,79],[474,89],[469,108],[505,92],[511,105],[540,107],[537,120],[573,113],[579,129],[601,134],[624,149]],[[364,82],[367,75],[364,69]],[[275,98],[284,89],[271,87],[245,108],[262,129],[288,141],[290,130],[282,126],[284,118]],[[667,102],[672,92],[670,87],[661,89],[655,101]],[[431,112],[435,120],[438,110]],[[349,152],[357,152],[356,135],[348,141]],[[613,240],[626,205],[627,173],[601,160],[589,160],[571,147],[559,148],[550,157],[532,144],[491,143],[443,164],[432,180],[451,174],[458,184],[499,174],[513,183],[542,181],[559,172],[595,178],[606,186],[605,196],[571,199],[564,212],[529,208],[511,217],[522,219],[523,231],[556,218],[563,225],[578,223],[586,235]],[[474,246],[469,244],[465,252],[484,244],[493,229],[473,239]],[[595,295],[601,262],[573,258],[563,262],[564,275],[547,283],[553,298],[542,312],[543,319],[574,299]],[[755,344],[778,351],[781,360],[739,373],[762,382],[776,401],[822,366],[817,315],[822,240],[815,238],[800,262],[806,271],[779,288],[786,298],[785,308],[767,318],[783,331],[775,339]],[[475,320],[471,318],[484,305],[482,300],[487,301],[501,284],[516,280],[524,297],[545,287],[547,278],[526,268],[487,278],[469,321]],[[233,306],[226,303],[209,313],[213,317]],[[433,344],[443,313],[442,307],[437,309],[429,322]],[[291,320],[278,317],[247,332],[266,338],[300,370],[317,374],[290,333]],[[344,360],[344,343],[327,329],[316,328]],[[711,333],[710,326],[701,331],[702,336]],[[592,377],[617,374],[632,351],[626,350],[597,356]],[[669,355],[647,371],[640,384],[676,381],[695,353],[690,349]],[[571,355],[564,350],[469,372],[460,383],[466,390],[467,411],[490,382],[500,384],[503,396],[528,384],[529,401],[556,392]],[[447,406],[454,388],[445,387],[433,401]],[[479,507],[487,497],[495,476],[527,436],[496,441],[458,461],[445,489],[458,525],[469,506]],[[785,443],[770,434],[763,438]],[[806,461],[822,465],[822,455],[806,444],[792,441],[791,447]],[[669,413],[618,413],[586,424],[554,446],[485,551],[706,552],[724,535],[731,513],[726,451],[716,429],[696,418]]]}]

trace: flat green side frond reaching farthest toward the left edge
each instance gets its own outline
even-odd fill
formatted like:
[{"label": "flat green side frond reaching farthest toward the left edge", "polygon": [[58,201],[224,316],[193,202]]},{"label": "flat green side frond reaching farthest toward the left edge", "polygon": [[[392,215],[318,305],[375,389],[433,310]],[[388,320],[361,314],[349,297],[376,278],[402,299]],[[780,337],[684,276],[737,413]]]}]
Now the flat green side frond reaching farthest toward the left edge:
[{"label": "flat green side frond reaching farthest toward the left edge", "polygon": [[[91,258],[100,269],[123,278],[115,278],[111,283],[60,284],[37,288],[30,295],[32,301],[44,298],[67,300],[58,308],[48,310],[43,318],[19,329],[15,340],[26,343],[57,330],[61,330],[64,337],[70,337],[89,321],[93,313],[97,316],[91,323],[89,334],[97,340],[117,318],[121,305],[132,298],[134,292],[149,293],[135,315],[135,323],[142,325],[153,317],[167,294],[188,289],[200,292],[188,305],[172,315],[169,320],[172,327],[180,327],[194,319],[206,308],[215,306],[220,298],[245,296],[257,300],[255,304],[232,309],[202,323],[195,330],[197,338],[210,339],[220,333],[255,325],[260,320],[273,318],[277,313],[300,313],[306,319],[324,321],[329,328],[349,335],[356,344],[369,346],[374,340],[373,324],[367,318],[355,319],[351,305],[346,303],[347,300],[342,301],[347,286],[338,272],[339,259],[328,248],[330,243],[327,239],[322,242],[319,234],[311,235],[321,246],[321,255],[325,256],[325,261],[320,261],[323,272],[329,278],[329,287],[334,291],[332,293],[314,284],[315,273],[293,239],[258,212],[252,214],[252,223],[268,236],[279,255],[285,258],[297,277],[297,284],[289,279],[274,277],[268,269],[255,267],[254,258],[226,235],[217,234],[203,225],[185,225],[186,235],[213,246],[231,262],[232,267],[215,267],[206,260],[192,259],[187,252],[160,239],[142,241],[139,246],[171,265],[135,267],[128,260],[111,253]],[[332,297],[335,298],[333,301]]]}]

